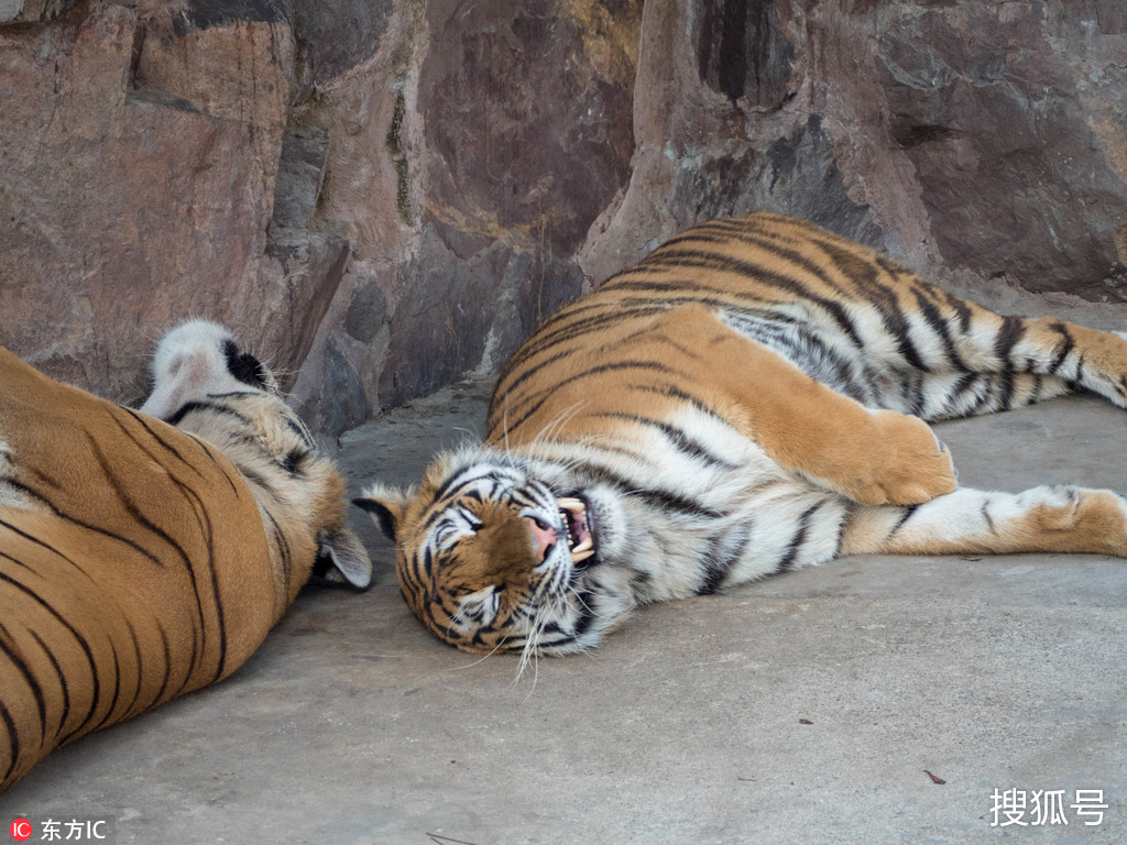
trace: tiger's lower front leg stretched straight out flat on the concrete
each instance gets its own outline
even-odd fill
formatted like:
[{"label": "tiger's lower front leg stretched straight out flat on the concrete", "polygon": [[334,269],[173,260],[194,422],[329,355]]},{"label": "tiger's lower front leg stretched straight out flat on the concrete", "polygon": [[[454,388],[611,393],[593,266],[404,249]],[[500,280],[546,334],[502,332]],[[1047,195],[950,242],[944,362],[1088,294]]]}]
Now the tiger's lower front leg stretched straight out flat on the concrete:
[{"label": "tiger's lower front leg stretched straight out flat on the concrete", "polygon": [[1127,557],[1127,500],[1110,490],[960,488],[922,505],[859,506],[842,554],[1090,552]]}]

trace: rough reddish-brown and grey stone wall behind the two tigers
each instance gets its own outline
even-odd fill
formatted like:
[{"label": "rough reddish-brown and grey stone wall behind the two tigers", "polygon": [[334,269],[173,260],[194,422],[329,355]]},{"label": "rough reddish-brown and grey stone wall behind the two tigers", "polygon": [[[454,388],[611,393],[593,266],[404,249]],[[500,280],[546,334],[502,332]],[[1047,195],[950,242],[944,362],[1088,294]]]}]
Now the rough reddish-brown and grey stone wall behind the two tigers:
[{"label": "rough reddish-brown and grey stone wall behind the two tigers", "polygon": [[0,0],[0,341],[118,399],[204,315],[336,434],[753,208],[1127,315],[1118,0]]}]

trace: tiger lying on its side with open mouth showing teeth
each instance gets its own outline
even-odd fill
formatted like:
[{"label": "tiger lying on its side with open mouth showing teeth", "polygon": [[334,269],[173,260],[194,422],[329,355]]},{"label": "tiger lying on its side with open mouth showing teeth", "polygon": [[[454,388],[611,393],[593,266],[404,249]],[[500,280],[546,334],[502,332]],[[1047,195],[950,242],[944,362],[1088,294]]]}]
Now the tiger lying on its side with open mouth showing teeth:
[{"label": "tiger lying on its side with open mouth showing teeth", "polygon": [[505,366],[483,445],[356,504],[440,639],[578,651],[637,605],[842,554],[1127,555],[1116,493],[956,489],[923,421],[1074,388],[1127,406],[1127,343],[999,317],[758,213],[698,225],[560,310]]}]

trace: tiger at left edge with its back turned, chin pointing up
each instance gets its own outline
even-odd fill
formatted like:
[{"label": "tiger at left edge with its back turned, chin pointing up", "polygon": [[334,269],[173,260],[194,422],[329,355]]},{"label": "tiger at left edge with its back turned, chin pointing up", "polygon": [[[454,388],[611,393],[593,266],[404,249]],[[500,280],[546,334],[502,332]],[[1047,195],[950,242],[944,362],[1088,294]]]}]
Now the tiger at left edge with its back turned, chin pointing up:
[{"label": "tiger at left edge with its back turned, chin pointing up", "polygon": [[267,367],[195,321],[152,376],[134,411],[0,349],[0,791],[230,675],[318,555],[369,581],[344,482]]}]

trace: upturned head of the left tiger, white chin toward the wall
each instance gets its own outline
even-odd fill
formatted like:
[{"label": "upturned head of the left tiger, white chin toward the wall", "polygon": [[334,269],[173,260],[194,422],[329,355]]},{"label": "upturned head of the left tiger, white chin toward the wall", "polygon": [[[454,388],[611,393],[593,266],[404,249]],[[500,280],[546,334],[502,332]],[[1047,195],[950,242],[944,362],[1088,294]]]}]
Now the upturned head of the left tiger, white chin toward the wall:
[{"label": "upturned head of the left tiger, white chin toward the wall", "polygon": [[223,327],[196,320],[165,335],[151,375],[140,410],[215,446],[254,495],[275,567],[276,616],[314,571],[369,585],[371,560],[345,527],[344,480],[265,364]]}]

